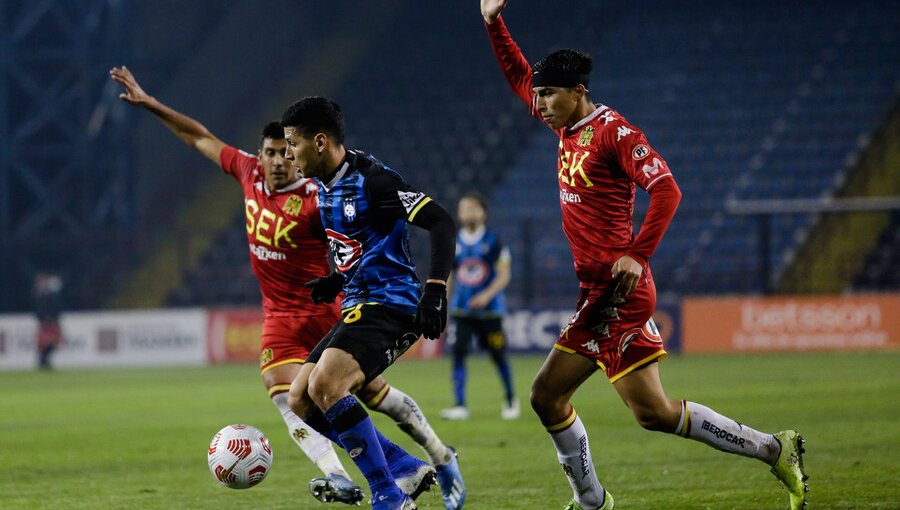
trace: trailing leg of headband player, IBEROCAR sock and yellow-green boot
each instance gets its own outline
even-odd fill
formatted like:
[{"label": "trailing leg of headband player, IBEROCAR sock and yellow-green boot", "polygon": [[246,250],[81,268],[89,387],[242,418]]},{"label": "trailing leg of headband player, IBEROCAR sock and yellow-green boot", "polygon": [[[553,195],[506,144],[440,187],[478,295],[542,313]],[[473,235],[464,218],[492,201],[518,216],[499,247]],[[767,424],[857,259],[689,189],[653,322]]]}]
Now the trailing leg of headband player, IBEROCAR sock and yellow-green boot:
[{"label": "trailing leg of headband player, IBEROCAR sock and yellow-green boot", "polygon": [[793,509],[806,504],[803,440],[796,432],[767,434],[704,405],[672,400],[663,390],[656,362],[624,375],[613,386],[645,429],[676,434],[724,452],[759,459],[771,466],[772,472],[788,488]]}]

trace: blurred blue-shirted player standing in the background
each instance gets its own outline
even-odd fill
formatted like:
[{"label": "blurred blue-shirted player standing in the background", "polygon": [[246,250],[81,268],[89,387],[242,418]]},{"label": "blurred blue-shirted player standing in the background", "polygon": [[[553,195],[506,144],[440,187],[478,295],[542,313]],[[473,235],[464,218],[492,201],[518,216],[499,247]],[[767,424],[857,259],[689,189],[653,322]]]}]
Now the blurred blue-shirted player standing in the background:
[{"label": "blurred blue-shirted player standing in the background", "polygon": [[481,194],[468,192],[459,199],[454,275],[450,281],[450,313],[456,324],[453,343],[453,394],[456,405],[441,411],[445,420],[469,419],[466,407],[466,356],[472,337],[488,351],[503,383],[505,398],[500,409],[504,420],[519,417],[519,399],[513,389],[512,372],[506,359],[503,289],[509,284],[509,249],[487,228],[487,202]]}]

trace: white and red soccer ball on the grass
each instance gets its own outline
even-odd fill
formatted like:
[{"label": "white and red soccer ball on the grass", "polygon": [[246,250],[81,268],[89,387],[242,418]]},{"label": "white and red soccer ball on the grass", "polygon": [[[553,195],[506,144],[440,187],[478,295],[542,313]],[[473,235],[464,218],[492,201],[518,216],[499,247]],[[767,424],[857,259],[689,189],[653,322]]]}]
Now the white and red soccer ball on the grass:
[{"label": "white and red soccer ball on the grass", "polygon": [[229,425],[217,432],[206,457],[213,478],[232,489],[253,487],[272,467],[269,438],[250,425]]}]

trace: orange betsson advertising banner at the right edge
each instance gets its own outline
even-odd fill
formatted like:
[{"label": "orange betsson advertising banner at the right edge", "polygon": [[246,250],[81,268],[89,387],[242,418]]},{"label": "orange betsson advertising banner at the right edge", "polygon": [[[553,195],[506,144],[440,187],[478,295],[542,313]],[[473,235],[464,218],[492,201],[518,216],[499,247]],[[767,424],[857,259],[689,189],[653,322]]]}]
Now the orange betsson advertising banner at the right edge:
[{"label": "orange betsson advertising banner at the right edge", "polygon": [[900,295],[686,298],[682,350],[900,348]]}]

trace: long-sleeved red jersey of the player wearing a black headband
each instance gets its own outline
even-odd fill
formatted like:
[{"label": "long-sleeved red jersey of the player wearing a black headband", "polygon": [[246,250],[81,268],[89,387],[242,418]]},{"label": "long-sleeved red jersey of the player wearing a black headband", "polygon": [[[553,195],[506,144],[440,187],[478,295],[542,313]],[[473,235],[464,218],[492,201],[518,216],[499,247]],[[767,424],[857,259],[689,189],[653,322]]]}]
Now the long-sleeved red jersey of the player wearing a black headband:
[{"label": "long-sleeved red jersey of the player wearing a black headband", "polygon": [[[487,25],[494,53],[516,94],[541,118],[532,89],[532,69],[503,19]],[[575,274],[583,287],[606,285],[612,265],[631,255],[645,269],[671,221],[677,187],[654,203],[638,239],[633,235],[635,185],[651,192],[672,174],[640,129],[603,105],[559,136],[557,176],[563,231],[572,248]],[[674,193],[673,193],[674,192]],[[656,210],[653,208],[656,207]],[[648,275],[649,276],[649,275]]]}]

